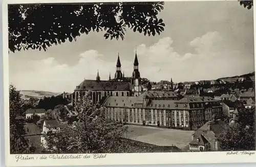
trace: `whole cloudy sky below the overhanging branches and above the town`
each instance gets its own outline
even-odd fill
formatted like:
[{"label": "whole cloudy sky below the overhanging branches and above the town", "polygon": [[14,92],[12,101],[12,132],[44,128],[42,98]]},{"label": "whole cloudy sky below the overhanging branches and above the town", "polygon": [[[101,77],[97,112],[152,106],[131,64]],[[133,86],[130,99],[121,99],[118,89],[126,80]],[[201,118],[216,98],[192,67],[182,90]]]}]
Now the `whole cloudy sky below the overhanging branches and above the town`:
[{"label": "whole cloudy sky below the overhanging branches and above the town", "polygon": [[174,82],[211,80],[254,71],[253,9],[237,1],[165,2],[158,15],[164,32],[144,36],[127,30],[124,40],[103,32],[84,34],[46,52],[9,54],[9,82],[19,90],[72,92],[84,79],[114,77],[119,52],[131,76],[135,50],[142,78]]}]

